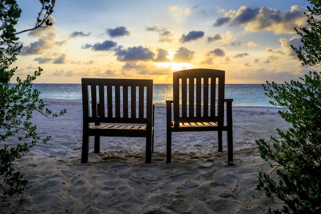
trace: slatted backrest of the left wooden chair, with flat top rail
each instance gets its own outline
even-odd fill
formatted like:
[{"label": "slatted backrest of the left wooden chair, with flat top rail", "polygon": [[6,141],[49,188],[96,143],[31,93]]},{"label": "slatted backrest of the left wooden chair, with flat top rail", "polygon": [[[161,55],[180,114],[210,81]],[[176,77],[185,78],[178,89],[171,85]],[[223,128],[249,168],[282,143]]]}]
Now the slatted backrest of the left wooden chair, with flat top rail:
[{"label": "slatted backrest of the left wooden chair, with flat top rail", "polygon": [[153,80],[82,79],[84,123],[151,126]]}]

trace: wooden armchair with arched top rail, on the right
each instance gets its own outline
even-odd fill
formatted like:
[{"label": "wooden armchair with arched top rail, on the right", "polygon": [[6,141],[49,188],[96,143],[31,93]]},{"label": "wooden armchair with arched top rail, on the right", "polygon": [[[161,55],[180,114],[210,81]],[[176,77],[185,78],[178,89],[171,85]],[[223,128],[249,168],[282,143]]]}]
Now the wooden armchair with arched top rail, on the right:
[{"label": "wooden armchair with arched top rail, on the right", "polygon": [[233,99],[224,98],[224,87],[222,70],[190,69],[173,73],[173,101],[166,101],[167,163],[171,163],[172,132],[217,131],[218,151],[222,151],[222,131],[227,131],[228,164],[233,164]]}]

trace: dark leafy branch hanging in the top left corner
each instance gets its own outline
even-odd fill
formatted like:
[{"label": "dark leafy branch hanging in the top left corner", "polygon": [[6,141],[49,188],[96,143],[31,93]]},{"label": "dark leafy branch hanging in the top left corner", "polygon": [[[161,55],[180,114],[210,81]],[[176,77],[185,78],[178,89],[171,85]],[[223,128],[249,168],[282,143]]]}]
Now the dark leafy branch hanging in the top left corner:
[{"label": "dark leafy branch hanging in the top left corner", "polygon": [[39,0],[39,2],[41,3],[42,8],[38,13],[35,26],[30,29],[16,32],[15,25],[18,22],[18,18],[21,16],[22,10],[18,7],[15,0],[0,0],[0,20],[2,22],[2,25],[0,26],[0,46],[15,43],[18,40],[16,35],[19,33],[52,25],[48,18],[53,13],[55,0]]}]

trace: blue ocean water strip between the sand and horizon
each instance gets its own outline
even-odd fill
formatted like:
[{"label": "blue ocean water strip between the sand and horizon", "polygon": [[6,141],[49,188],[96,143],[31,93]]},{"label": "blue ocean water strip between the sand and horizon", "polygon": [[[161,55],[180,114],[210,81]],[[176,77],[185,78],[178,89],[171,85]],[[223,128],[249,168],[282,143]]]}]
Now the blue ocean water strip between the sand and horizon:
[{"label": "blue ocean water strip between the sand and horizon", "polygon": [[[33,84],[33,88],[41,91],[41,99],[82,99],[81,84]],[[261,84],[226,84],[225,98],[233,99],[235,107],[275,108]],[[172,84],[153,85],[153,102],[165,104],[172,99]]]}]

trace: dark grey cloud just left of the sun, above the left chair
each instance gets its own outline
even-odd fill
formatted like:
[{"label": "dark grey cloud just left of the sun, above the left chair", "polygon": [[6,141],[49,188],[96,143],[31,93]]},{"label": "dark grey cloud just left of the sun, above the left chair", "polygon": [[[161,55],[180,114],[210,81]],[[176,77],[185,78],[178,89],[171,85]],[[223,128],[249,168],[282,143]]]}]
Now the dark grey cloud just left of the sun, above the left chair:
[{"label": "dark grey cloud just left of the sun, above the left chair", "polygon": [[149,61],[153,60],[154,53],[150,51],[148,48],[144,48],[143,46],[138,47],[129,47],[127,49],[123,49],[121,47],[115,50],[115,55],[117,56],[117,60],[121,62],[127,61]]}]

